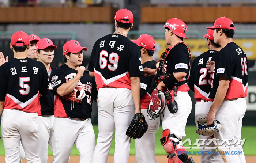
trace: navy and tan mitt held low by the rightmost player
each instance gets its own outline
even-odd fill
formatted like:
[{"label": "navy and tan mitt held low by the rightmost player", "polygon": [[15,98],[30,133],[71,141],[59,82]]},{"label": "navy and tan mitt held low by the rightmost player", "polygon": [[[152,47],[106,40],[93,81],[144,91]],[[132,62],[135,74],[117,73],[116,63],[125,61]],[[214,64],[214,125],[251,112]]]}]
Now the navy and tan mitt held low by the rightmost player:
[{"label": "navy and tan mitt held low by the rightmost player", "polygon": [[196,130],[196,133],[203,136],[212,136],[222,128],[221,122],[215,119],[212,126],[207,126],[206,118],[199,118],[197,124],[198,130]]}]

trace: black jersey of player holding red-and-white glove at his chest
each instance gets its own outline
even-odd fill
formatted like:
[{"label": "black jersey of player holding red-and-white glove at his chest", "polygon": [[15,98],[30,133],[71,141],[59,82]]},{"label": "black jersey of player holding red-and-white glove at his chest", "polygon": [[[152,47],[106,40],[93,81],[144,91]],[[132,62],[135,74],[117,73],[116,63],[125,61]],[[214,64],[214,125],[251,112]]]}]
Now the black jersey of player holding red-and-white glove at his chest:
[{"label": "black jersey of player holding red-and-white glove at his chest", "polygon": [[82,102],[75,102],[74,108],[72,107],[71,101],[67,101],[57,94],[57,88],[59,88],[61,84],[66,83],[67,79],[71,80],[76,76],[76,74],[77,70],[72,69],[68,67],[68,65],[64,64],[59,68],[54,69],[50,76],[52,90],[55,94],[55,117],[91,118],[91,104],[93,103],[93,100],[96,101],[98,91],[96,88],[95,79],[89,75],[88,71],[85,71],[83,76],[80,78],[80,82],[83,84],[83,88],[86,93],[86,97],[83,98]]}]

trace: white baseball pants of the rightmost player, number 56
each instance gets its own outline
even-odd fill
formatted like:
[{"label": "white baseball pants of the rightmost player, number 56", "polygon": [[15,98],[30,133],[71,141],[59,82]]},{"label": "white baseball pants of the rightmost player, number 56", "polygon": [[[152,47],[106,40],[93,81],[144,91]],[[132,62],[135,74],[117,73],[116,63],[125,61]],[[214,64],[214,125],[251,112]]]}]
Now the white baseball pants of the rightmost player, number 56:
[{"label": "white baseball pants of the rightmost player, number 56", "polygon": [[[224,100],[221,105],[218,107],[215,115],[215,119],[221,122],[221,130],[214,135],[217,139],[232,139],[232,142],[228,144],[224,143],[226,147],[230,149],[222,149],[224,151],[233,151],[242,152],[241,155],[226,155],[230,160],[230,163],[245,163],[245,156],[242,149],[231,148],[232,144],[235,147],[242,147],[241,143],[236,142],[237,139],[241,139],[241,130],[242,130],[242,118],[244,117],[246,111],[246,101],[245,98],[239,98],[236,100]],[[217,143],[221,143],[222,141]]]}]

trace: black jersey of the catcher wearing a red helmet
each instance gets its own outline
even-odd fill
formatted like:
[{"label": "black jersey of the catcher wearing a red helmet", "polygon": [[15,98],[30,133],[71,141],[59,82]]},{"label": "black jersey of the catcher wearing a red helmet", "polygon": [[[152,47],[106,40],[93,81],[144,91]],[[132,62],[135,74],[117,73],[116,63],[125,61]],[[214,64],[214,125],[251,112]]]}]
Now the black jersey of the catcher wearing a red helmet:
[{"label": "black jersey of the catcher wearing a red helmet", "polygon": [[189,87],[187,85],[188,74],[190,68],[190,50],[185,43],[179,42],[174,46],[170,46],[166,49],[165,53],[162,54],[162,71],[172,74],[173,72],[185,72],[186,77],[181,79],[183,82],[178,91],[188,91]]}]

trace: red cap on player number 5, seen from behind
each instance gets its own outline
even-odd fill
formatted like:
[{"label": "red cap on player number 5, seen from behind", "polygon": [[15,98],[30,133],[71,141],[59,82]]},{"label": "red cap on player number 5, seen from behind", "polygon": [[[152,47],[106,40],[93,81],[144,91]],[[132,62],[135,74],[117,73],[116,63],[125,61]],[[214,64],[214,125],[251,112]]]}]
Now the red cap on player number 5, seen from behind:
[{"label": "red cap on player number 5, seen from behind", "polygon": [[[18,41],[21,41],[23,43],[16,43]],[[22,32],[22,31],[15,32],[12,35],[11,44],[14,46],[29,45],[29,36],[25,32]]]}]

